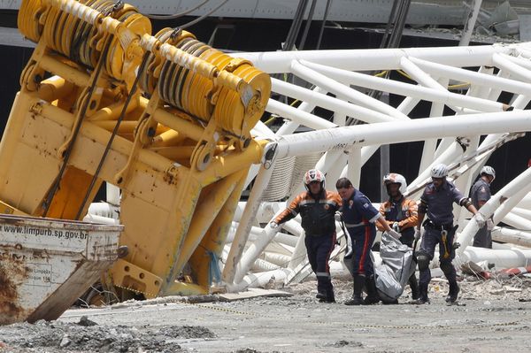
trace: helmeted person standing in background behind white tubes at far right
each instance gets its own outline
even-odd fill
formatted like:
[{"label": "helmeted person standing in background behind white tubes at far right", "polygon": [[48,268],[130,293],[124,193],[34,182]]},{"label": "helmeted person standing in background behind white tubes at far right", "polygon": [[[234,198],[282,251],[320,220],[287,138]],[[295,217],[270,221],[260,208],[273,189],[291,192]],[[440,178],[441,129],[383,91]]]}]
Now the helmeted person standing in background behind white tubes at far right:
[{"label": "helmeted person standing in background behind white tubes at far right", "polygon": [[[481,168],[480,179],[478,179],[470,191],[473,207],[477,210],[490,199],[490,183],[496,178],[493,167],[485,165]],[[473,246],[479,248],[492,249],[492,234],[490,230],[494,227],[491,219],[487,219],[485,226],[481,227],[473,236]]]}]

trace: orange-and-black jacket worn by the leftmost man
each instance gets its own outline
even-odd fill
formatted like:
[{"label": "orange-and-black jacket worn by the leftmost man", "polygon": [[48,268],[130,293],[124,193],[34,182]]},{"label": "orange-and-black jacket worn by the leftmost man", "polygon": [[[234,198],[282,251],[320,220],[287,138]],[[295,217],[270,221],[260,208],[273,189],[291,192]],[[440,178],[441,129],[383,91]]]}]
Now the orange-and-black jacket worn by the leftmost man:
[{"label": "orange-and-black jacket worn by the leftmost man", "polygon": [[316,199],[307,191],[296,196],[289,207],[274,219],[278,224],[301,214],[302,226],[306,235],[329,235],[335,234],[335,211],[341,207],[339,194],[327,191],[321,193]]}]

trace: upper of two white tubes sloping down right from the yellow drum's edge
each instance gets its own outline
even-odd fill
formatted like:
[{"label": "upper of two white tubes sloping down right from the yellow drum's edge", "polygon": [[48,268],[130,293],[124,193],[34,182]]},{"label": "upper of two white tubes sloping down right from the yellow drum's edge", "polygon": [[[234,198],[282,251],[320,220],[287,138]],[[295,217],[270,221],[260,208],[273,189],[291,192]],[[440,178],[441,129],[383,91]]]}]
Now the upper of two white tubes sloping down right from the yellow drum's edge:
[{"label": "upper of two white tubes sloping down right from the yellow drum's edge", "polygon": [[337,99],[332,96],[327,96],[307,88],[292,85],[288,82],[280,81],[273,78],[271,79],[271,84],[272,90],[281,95],[312,102],[313,104],[317,104],[330,111],[339,112],[341,114],[351,117],[355,116],[356,119],[365,121],[367,123],[379,123],[382,121],[395,120],[387,114],[382,114],[378,111],[373,111],[371,109],[367,109],[359,105],[351,104],[344,100]]}]

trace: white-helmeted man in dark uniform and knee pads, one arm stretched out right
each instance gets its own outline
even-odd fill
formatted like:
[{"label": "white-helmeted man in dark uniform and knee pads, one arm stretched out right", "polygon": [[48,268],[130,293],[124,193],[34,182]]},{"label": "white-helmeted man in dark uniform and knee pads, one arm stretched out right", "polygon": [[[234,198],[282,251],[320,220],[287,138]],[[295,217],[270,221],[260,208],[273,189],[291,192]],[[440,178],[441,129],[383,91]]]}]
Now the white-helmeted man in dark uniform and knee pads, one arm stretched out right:
[{"label": "white-helmeted man in dark uniform and knee pads, one arm stretched out right", "polygon": [[456,269],[451,264],[455,257],[455,249],[458,243],[454,244],[454,234],[457,226],[453,225],[452,203],[466,207],[474,215],[473,219],[481,227],[485,224],[485,219],[480,212],[473,207],[472,202],[456,188],[449,180],[448,167],[446,165],[434,165],[431,169],[432,181],[424,188],[420,196],[419,204],[419,224],[415,231],[415,238],[421,237],[420,225],[424,220],[424,235],[417,253],[417,263],[419,265],[419,299],[417,303],[429,303],[427,297],[427,286],[431,280],[429,262],[434,257],[435,246],[439,244],[439,262],[446,279],[450,285],[450,290],[446,296],[447,303],[454,303],[458,299],[459,286],[456,279]]}]

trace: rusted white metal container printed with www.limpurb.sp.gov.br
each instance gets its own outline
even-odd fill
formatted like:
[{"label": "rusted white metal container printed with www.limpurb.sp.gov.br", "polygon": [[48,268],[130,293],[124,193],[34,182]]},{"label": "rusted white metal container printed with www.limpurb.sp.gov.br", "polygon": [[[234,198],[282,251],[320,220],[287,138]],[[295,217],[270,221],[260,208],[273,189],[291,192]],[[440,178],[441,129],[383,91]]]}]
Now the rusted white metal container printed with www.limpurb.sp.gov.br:
[{"label": "rusted white metal container printed with www.limpurb.sp.gov.br", "polygon": [[116,261],[122,229],[0,215],[0,325],[58,318]]}]

